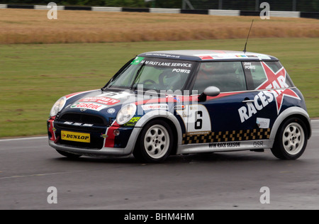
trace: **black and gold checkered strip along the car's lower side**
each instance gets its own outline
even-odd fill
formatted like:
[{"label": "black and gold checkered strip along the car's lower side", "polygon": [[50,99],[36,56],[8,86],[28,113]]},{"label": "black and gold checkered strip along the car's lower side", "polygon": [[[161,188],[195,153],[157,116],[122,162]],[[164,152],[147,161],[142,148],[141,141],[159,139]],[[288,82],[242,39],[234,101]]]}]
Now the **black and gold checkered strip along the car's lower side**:
[{"label": "black and gold checkered strip along the car's lower side", "polygon": [[270,138],[270,128],[258,128],[252,130],[230,130],[210,132],[206,134],[183,134],[182,144],[233,142],[245,140],[260,140]]}]

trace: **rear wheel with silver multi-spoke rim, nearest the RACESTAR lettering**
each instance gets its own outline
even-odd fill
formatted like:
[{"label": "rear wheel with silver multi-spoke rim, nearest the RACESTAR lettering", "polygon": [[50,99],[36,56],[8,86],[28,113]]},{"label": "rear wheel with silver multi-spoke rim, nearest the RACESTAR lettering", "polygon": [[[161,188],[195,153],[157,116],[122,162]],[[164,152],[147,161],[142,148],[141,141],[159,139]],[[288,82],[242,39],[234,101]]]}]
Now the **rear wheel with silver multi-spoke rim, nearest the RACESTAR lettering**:
[{"label": "rear wheel with silver multi-spoke rim, nearest the RACESTAR lettering", "polygon": [[276,134],[272,154],[279,159],[298,159],[308,141],[306,125],[299,118],[284,121]]}]

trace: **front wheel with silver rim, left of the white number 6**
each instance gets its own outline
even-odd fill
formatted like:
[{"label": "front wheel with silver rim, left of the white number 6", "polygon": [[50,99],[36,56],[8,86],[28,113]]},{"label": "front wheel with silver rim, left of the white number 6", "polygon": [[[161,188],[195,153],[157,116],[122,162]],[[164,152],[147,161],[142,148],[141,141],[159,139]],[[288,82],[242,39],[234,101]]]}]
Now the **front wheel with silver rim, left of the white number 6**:
[{"label": "front wheel with silver rim, left of the white number 6", "polygon": [[162,120],[154,120],[142,129],[133,155],[141,162],[164,162],[173,145],[173,132],[169,125]]}]

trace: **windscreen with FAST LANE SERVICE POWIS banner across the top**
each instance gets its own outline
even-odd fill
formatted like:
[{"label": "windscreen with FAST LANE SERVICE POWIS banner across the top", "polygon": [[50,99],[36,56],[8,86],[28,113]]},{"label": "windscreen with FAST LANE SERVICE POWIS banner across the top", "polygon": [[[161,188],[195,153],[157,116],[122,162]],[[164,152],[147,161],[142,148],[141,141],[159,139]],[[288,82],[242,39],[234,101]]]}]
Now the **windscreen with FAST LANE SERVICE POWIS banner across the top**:
[{"label": "windscreen with FAST LANE SERVICE POWIS banner across the top", "polygon": [[135,57],[106,88],[181,90],[195,65],[196,62],[186,60]]}]

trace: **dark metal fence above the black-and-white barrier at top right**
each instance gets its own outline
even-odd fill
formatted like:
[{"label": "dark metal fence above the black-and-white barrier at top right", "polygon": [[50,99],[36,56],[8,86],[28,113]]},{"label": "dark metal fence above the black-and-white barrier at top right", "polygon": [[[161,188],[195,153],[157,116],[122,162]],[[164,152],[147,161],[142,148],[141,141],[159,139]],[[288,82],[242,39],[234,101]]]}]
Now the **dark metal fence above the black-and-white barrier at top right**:
[{"label": "dark metal fence above the black-and-white barrier at top right", "polygon": [[[158,1],[158,0],[157,0]],[[262,2],[270,5],[271,11],[319,11],[319,0],[182,0],[182,9],[225,9],[260,11]]]}]

